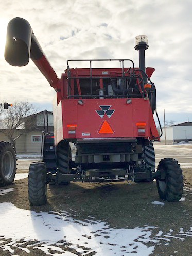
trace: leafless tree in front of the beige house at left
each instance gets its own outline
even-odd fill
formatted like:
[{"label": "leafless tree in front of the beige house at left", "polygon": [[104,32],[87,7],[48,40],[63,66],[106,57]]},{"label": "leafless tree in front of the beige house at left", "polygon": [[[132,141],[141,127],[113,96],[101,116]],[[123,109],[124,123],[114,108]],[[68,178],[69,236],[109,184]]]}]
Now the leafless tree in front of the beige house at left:
[{"label": "leafless tree in front of the beige house at left", "polygon": [[[14,102],[12,107],[4,111],[2,120],[2,133],[4,133],[14,145],[14,140],[22,134],[34,128],[31,115],[37,113],[37,109],[28,101]],[[31,123],[30,123],[31,122]],[[19,131],[19,135],[18,132]]]}]

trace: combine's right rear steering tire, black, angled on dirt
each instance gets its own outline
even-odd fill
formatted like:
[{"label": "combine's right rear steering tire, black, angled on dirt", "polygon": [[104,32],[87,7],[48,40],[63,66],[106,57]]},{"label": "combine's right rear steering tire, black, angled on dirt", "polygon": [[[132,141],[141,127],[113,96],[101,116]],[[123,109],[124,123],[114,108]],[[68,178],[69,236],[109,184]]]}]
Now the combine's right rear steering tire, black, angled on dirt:
[{"label": "combine's right rear steering tire, black, angled on dirt", "polygon": [[159,162],[161,177],[156,179],[158,193],[162,200],[179,201],[183,194],[183,175],[175,159],[165,158]]}]

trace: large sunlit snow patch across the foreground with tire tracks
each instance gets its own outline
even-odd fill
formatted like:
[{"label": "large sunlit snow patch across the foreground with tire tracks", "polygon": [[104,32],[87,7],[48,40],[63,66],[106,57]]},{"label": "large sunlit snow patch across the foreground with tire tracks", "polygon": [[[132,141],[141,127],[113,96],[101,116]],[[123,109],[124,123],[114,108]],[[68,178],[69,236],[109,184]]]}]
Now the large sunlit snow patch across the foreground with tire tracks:
[{"label": "large sunlit snow patch across the foreground with tire tracks", "polygon": [[[22,246],[22,250],[25,248],[29,252],[31,245],[24,247],[26,242],[39,241],[34,248],[47,255],[58,255],[56,252],[50,252],[50,248],[64,252],[66,256],[77,253],[83,256],[91,252],[96,252],[98,256],[135,255],[135,253],[137,256],[148,256],[154,250],[151,242],[158,243],[157,240],[150,239],[151,230],[155,227],[114,229],[102,221],[75,220],[65,212],[36,213],[18,209],[12,203],[0,204],[0,219],[4,220],[3,223],[0,222],[0,249],[11,253],[14,253],[15,246]],[[9,240],[5,244],[6,239],[11,239],[11,242]],[[23,243],[21,243],[22,239]],[[4,244],[2,244],[3,240]],[[61,245],[64,247],[59,247]],[[66,248],[73,250],[66,251]]]}]

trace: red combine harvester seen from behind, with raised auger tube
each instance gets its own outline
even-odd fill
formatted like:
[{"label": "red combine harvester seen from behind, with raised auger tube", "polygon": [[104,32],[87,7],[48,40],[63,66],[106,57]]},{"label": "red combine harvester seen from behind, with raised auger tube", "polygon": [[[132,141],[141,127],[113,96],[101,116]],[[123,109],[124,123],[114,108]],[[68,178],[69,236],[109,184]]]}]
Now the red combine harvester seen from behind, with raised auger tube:
[{"label": "red combine harvester seen from behind, with raised auger tube", "polygon": [[[47,184],[70,181],[157,181],[160,198],[180,200],[182,170],[172,158],[162,159],[155,170],[152,141],[160,136],[153,114],[156,91],[151,82],[154,68],[145,68],[146,36],[136,37],[139,68],[130,59],[78,60],[88,68],[70,68],[58,78],[43,53],[30,24],[14,18],[8,24],[5,59],[24,66],[29,58],[57,92],[53,104],[54,135],[45,125],[42,162],[29,168],[30,205],[47,200]],[[93,68],[95,63],[120,61],[120,68]],[[129,63],[131,67],[125,67]],[[104,66],[105,67],[105,66]],[[45,115],[45,123],[47,123]],[[159,120],[159,118],[158,118]],[[161,127],[161,125],[160,125]],[[76,146],[72,159],[69,142]]]}]

